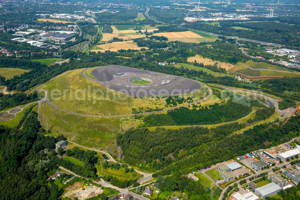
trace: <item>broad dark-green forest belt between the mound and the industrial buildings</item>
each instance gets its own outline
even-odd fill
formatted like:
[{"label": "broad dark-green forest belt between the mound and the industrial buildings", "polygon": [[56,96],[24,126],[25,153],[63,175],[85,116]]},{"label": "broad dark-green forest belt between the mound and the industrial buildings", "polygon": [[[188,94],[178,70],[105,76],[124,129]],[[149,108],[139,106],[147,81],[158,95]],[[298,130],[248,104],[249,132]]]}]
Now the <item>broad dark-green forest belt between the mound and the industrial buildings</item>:
[{"label": "broad dark-green forest belt between the mound and the industrial buildings", "polygon": [[231,134],[245,126],[238,123],[221,125],[210,130],[202,127],[156,131],[145,128],[131,129],[123,135],[117,135],[117,144],[121,146],[127,163],[139,163],[141,168],[150,171],[163,168],[155,172],[153,177],[173,174],[177,170],[189,173],[265,148],[265,141],[276,145],[297,136],[297,131],[300,130],[300,116],[293,117],[282,127],[278,126],[277,122],[275,120],[273,123],[254,126],[242,134]]}]

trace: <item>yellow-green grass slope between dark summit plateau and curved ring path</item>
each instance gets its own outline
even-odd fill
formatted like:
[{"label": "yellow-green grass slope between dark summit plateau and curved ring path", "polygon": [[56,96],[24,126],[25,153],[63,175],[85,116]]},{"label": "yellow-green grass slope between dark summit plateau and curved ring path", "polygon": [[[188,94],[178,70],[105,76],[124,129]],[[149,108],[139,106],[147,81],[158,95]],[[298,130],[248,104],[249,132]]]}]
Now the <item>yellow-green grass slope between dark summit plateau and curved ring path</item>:
[{"label": "yellow-green grass slope between dark summit plateau and curved ring path", "polygon": [[[48,89],[49,94],[54,90],[61,92],[60,96],[49,98],[49,101],[58,108],[81,114],[131,114],[131,98],[127,98],[124,101],[120,101],[119,98],[113,100],[113,95],[121,95],[124,98],[125,94],[113,92],[95,81],[86,79],[80,73],[82,70],[68,71],[42,86],[41,89]],[[64,89],[72,89],[73,91],[63,92]],[[93,92],[98,89],[102,92]]]}]

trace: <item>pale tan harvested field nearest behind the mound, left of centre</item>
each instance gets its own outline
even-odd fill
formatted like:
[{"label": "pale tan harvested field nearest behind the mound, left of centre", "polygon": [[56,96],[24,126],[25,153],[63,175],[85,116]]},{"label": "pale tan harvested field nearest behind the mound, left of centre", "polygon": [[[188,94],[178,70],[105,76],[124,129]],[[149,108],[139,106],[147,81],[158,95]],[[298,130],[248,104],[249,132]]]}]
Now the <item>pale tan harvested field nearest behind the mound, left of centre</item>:
[{"label": "pale tan harvested field nearest behind the mound, left of centre", "polygon": [[94,52],[105,52],[105,51],[117,51],[121,49],[134,49],[134,50],[140,50],[141,48],[145,47],[138,47],[136,44],[130,42],[130,41],[123,41],[123,42],[112,42],[110,43],[110,49],[109,49],[109,44],[101,44],[97,45],[97,47],[101,48],[100,50],[91,50]]}]

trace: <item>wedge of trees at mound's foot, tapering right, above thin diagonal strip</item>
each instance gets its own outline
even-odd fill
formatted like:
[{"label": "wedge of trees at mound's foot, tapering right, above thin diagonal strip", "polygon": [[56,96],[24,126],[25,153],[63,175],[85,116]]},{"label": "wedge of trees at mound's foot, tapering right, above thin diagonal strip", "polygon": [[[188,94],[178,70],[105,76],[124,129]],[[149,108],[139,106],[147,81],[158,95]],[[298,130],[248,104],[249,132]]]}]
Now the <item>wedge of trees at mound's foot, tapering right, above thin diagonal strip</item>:
[{"label": "wedge of trees at mound's foot, tapering right, above thin diagonal strip", "polygon": [[[227,134],[244,127],[238,123],[219,126],[214,129],[189,127],[179,130],[133,129],[123,135],[117,135],[117,144],[122,147],[125,161],[131,165],[146,162],[150,170],[161,169],[174,160],[180,160],[192,155],[202,144],[207,144],[214,138],[222,138]],[[166,146],[167,144],[167,146]]]}]

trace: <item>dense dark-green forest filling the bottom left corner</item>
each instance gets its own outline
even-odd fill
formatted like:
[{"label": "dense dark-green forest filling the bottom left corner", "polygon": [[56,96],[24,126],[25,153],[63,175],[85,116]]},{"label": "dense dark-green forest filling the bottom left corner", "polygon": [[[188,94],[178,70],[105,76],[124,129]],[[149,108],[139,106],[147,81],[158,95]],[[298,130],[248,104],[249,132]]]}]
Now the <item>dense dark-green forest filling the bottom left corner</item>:
[{"label": "dense dark-green forest filling the bottom left corner", "polygon": [[60,196],[58,186],[46,182],[46,173],[55,169],[56,163],[40,153],[54,147],[56,139],[44,135],[37,116],[30,112],[22,129],[0,126],[0,186],[10,188],[0,191],[2,199],[56,200]]}]

